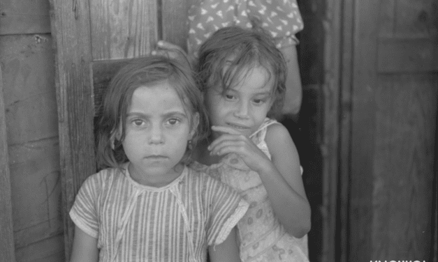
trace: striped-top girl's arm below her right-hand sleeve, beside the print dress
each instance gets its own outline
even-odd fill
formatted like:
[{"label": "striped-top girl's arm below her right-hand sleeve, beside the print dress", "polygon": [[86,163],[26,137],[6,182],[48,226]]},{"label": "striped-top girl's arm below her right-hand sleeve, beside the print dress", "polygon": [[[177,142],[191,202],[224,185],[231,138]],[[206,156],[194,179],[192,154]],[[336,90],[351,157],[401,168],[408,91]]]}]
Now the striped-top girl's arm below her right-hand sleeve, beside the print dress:
[{"label": "striped-top girl's arm below her right-hand sleeve, beside the print dress", "polygon": [[208,247],[211,262],[240,262],[239,248],[236,241],[236,229],[233,228],[228,238],[216,246]]}]

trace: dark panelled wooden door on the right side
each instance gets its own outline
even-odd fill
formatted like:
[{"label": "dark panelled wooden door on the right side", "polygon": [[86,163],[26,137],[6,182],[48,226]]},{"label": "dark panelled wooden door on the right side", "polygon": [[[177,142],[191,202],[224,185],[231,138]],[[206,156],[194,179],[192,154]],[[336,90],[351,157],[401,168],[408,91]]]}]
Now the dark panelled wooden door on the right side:
[{"label": "dark panelled wooden door on the right side", "polygon": [[340,261],[430,261],[436,0],[346,0]]}]

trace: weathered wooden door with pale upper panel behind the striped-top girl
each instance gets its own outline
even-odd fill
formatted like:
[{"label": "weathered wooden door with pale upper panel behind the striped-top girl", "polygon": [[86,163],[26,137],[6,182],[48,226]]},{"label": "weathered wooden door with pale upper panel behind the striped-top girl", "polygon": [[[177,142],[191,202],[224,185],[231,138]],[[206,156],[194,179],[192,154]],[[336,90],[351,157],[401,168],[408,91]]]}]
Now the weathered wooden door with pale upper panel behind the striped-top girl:
[{"label": "weathered wooden door with pale upper panel behind the striped-top girl", "polygon": [[74,229],[68,211],[82,182],[96,171],[93,86],[111,77],[101,72],[117,69],[124,59],[149,54],[160,39],[185,47],[190,4],[180,0],[50,1],[67,260]]}]

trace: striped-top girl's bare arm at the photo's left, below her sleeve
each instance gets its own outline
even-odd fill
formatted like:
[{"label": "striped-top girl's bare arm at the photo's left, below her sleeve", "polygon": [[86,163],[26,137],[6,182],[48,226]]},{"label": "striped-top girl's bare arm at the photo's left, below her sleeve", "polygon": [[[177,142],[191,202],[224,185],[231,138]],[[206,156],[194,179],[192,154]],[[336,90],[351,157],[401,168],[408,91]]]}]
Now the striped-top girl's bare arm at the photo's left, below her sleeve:
[{"label": "striped-top girl's bare arm at the photo's left, below her sleeve", "polygon": [[97,262],[97,238],[89,236],[82,229],[75,226],[75,238],[71,251],[71,262]]}]

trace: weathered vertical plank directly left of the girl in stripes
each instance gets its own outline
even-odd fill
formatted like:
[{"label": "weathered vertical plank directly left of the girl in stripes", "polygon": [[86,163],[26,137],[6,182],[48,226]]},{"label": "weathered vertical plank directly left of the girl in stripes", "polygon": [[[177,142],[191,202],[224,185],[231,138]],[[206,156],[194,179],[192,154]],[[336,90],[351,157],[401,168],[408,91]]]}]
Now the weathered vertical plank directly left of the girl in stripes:
[{"label": "weathered vertical plank directly left of the girl in stripes", "polygon": [[83,180],[96,171],[89,1],[50,1],[50,18],[56,54],[61,190],[68,261],[74,229],[68,211]]}]

